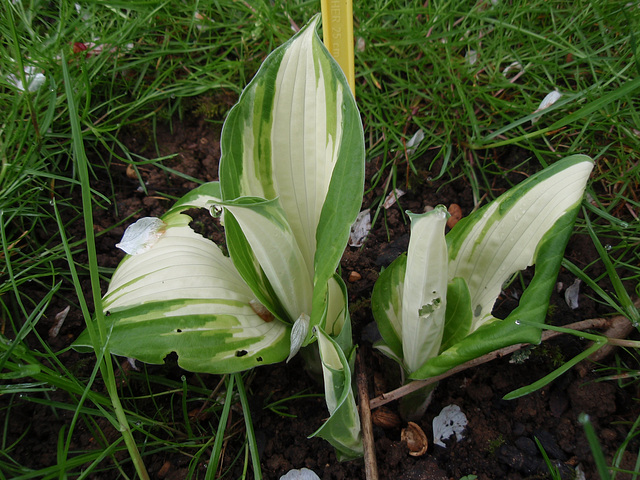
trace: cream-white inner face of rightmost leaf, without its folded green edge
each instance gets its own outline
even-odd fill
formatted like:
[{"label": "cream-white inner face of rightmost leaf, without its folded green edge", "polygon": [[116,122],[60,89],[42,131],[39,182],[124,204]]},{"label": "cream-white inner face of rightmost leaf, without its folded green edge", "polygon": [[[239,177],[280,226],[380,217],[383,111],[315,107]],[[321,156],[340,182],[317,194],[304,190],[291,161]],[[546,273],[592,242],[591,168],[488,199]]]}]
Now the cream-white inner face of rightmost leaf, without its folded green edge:
[{"label": "cream-white inner face of rightmost leaf, without its folded green edge", "polygon": [[471,294],[471,331],[492,320],[502,285],[533,265],[542,237],[582,200],[593,162],[574,155],[516,185],[447,235],[449,278],[464,278]]}]

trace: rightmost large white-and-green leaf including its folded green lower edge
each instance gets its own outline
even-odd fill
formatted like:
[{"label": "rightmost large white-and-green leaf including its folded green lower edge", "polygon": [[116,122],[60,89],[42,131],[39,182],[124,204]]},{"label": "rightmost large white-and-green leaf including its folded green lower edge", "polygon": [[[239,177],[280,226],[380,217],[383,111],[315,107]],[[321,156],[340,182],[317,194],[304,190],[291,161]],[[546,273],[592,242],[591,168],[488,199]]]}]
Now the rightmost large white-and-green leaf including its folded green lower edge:
[{"label": "rightmost large white-and-green leaf including its folded green lower edge", "polygon": [[[462,298],[460,306],[468,310],[464,303],[470,303],[471,333],[453,344],[447,341],[449,348],[428,360],[411,378],[432,377],[516,343],[540,342],[540,328],[530,324],[544,323],[592,168],[589,157],[567,157],[458,222],[447,235],[449,276],[461,277],[469,286],[470,302]],[[500,226],[501,222],[510,228]],[[493,317],[491,309],[502,283],[514,268],[532,264],[534,276],[518,307],[504,320]]]}]

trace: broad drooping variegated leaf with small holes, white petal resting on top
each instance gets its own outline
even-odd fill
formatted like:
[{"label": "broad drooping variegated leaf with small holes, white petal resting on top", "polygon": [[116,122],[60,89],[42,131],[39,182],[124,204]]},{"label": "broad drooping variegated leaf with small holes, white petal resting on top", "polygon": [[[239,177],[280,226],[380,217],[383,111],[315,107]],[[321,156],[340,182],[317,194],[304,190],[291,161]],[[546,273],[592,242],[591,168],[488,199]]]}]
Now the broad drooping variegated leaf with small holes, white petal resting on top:
[{"label": "broad drooping variegated leaf with small holes, white petal resting on top", "polygon": [[[147,363],[176,352],[183,368],[207,373],[284,360],[289,328],[256,314],[255,295],[231,259],[189,227],[191,218],[180,210],[207,199],[183,200],[162,217],[162,237],[145,253],[125,257],[113,275],[103,301],[111,352]],[[91,346],[86,332],[74,343],[83,346]]]}]

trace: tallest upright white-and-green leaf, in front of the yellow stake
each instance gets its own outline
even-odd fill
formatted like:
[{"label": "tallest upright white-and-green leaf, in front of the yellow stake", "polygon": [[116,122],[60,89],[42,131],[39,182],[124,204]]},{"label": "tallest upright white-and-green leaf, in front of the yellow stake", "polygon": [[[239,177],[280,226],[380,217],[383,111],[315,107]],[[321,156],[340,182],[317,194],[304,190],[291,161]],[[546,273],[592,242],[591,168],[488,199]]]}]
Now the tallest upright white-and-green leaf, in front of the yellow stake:
[{"label": "tallest upright white-and-green leaf, in front of the yellow stake", "polygon": [[[252,196],[280,203],[312,273],[312,326],[323,319],[328,282],[364,185],[359,113],[340,67],[316,34],[318,20],[269,55],[244,90],[225,122],[220,161],[225,201]],[[225,226],[234,241],[242,238],[234,231],[239,225]]]}]

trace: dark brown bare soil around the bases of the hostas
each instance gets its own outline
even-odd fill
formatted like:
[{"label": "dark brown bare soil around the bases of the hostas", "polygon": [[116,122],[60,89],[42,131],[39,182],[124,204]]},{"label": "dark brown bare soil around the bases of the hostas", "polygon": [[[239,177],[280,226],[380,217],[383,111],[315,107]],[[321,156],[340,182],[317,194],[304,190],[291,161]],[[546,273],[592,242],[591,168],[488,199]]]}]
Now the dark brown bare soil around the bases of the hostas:
[{"label": "dark brown bare soil around the bases of the hostas", "polygon": [[[154,154],[145,151],[149,140],[144,139],[144,136],[144,132],[129,132],[122,141],[137,153],[153,156]],[[212,126],[201,118],[192,118],[189,123],[174,123],[172,130],[167,126],[159,129],[157,144],[160,151],[158,153],[160,155],[177,154],[174,159],[166,162],[166,165],[172,169],[194,178],[214,180],[217,178],[220,154],[218,136],[219,127]],[[523,161],[520,154],[521,152],[518,151],[505,152],[504,158],[499,159],[498,163],[504,168],[520,165]],[[361,347],[360,353],[364,356],[368,377],[376,379],[376,389],[388,391],[399,386],[397,367],[371,348],[373,319],[370,314],[369,299],[373,283],[381,268],[388,265],[407,248],[409,229],[405,223],[403,210],[421,211],[426,206],[439,203],[458,204],[463,214],[468,214],[473,208],[471,190],[465,183],[464,176],[459,175],[457,180],[448,183],[431,182],[428,180],[431,175],[428,160],[424,158],[417,162],[417,165],[422,168],[421,178],[413,176],[410,179],[409,188],[403,188],[408,193],[401,198],[401,207],[396,205],[381,212],[364,247],[361,249],[348,247],[342,262],[342,275],[345,280],[349,280],[352,272],[357,272],[361,277],[356,281],[348,281],[354,342]],[[368,178],[377,171],[379,163],[380,159],[370,159],[367,168]],[[438,165],[432,167],[434,174],[438,172],[438,168]],[[404,168],[399,169],[401,170]],[[139,217],[161,215],[173,202],[167,199],[167,196],[177,198],[195,187],[195,183],[165,173],[154,166],[142,166],[139,171],[145,182],[147,193],[139,188],[138,180],[127,175],[124,164],[110,165],[108,176],[111,180],[107,180],[106,173],[94,178],[92,186],[107,192],[107,195],[110,194],[111,182],[115,185],[116,203],[108,210],[95,213],[98,233],[106,232],[98,239],[99,261],[104,267],[115,267],[120,261],[122,254],[114,248],[114,244],[119,241],[126,224]],[[451,178],[456,178],[456,175],[452,175]],[[518,182],[523,178],[523,174],[514,173],[510,180]],[[406,187],[406,179],[401,177],[400,180],[404,184],[403,187]],[[369,184],[367,188],[368,186]],[[493,194],[500,193],[501,189],[506,187],[507,185],[494,185]],[[374,199],[381,194],[381,187],[369,192],[364,199],[363,208],[370,207]],[[118,226],[113,227],[115,224]],[[73,234],[82,236],[82,225],[79,221],[77,228],[79,230]],[[580,266],[594,260],[595,255],[588,239],[582,237],[572,239],[567,250],[567,256]],[[353,277],[351,279],[353,280]],[[573,278],[563,271],[559,282],[566,287],[571,285]],[[549,315],[550,323],[564,325],[611,314],[592,300],[590,292],[584,288],[580,295],[579,308],[571,310],[563,299],[565,287],[559,287],[559,293],[554,294]],[[514,282],[499,299],[497,308],[500,311],[513,308],[516,302],[514,299],[521,293],[520,288],[518,282]],[[89,292],[89,289],[87,288],[86,291]],[[72,298],[71,293],[69,298]],[[83,328],[80,312],[75,307],[77,303],[71,301],[71,304],[74,306],[62,330],[59,334],[49,337],[49,343],[54,351],[66,348]],[[55,322],[54,315],[64,306],[65,302],[62,299],[57,301],[47,317],[40,321],[39,331],[45,338]],[[400,441],[400,430],[404,424],[387,429],[374,426],[380,478],[444,480],[459,479],[468,475],[475,475],[482,480],[549,478],[547,477],[548,469],[534,443],[535,438],[542,443],[553,463],[558,466],[562,478],[574,478],[578,465],[581,465],[586,472],[587,479],[598,478],[582,426],[577,421],[578,415],[583,412],[589,414],[607,460],[610,461],[616,448],[625,439],[630,422],[632,423],[640,415],[640,408],[635,399],[637,393],[635,385],[620,388],[613,381],[597,382],[598,374],[594,373],[595,366],[593,366],[584,370],[586,374],[583,375],[577,370],[571,370],[551,385],[523,398],[513,401],[502,400],[505,394],[543,377],[563,360],[573,357],[584,349],[585,343],[582,340],[562,337],[535,347],[529,359],[523,363],[511,363],[509,358],[503,358],[442,381],[427,413],[417,422],[431,443],[424,456],[408,455],[407,447]],[[73,366],[74,369],[81,368],[83,364],[90,367],[92,363],[90,355],[83,356],[72,351],[60,355],[60,359],[68,362],[69,368]],[[123,363],[122,359],[119,360]],[[609,358],[606,361],[611,364],[613,360]],[[179,379],[181,375],[185,375],[188,382],[196,383],[192,374],[182,372],[175,367],[174,363],[169,363],[171,365],[152,367],[153,373],[173,379]],[[257,369],[248,385],[252,393],[251,414],[261,450],[264,478],[277,479],[292,468],[302,467],[314,470],[323,479],[365,478],[362,460],[339,463],[329,444],[321,439],[307,438],[327,416],[322,398],[302,398],[287,402],[287,414],[293,417],[282,416],[270,409],[264,409],[269,402],[300,392],[321,393],[321,386],[303,372],[302,361],[296,358],[288,365],[280,364]],[[210,375],[199,378],[204,379],[208,388],[213,388],[219,380],[218,377]],[[370,385],[371,396],[375,394],[373,383],[372,381]],[[124,380],[123,385],[125,385]],[[140,375],[128,378],[126,388],[123,388],[126,394],[131,391],[145,390]],[[0,403],[4,403],[2,398]],[[450,404],[456,404],[462,409],[469,424],[464,439],[459,442],[455,439],[450,440],[445,449],[433,445],[431,422],[443,407]],[[139,408],[143,408],[144,404],[140,405]],[[152,409],[157,408],[157,405],[150,402],[148,407],[153,411]],[[173,406],[176,409],[179,407],[179,403]],[[387,407],[391,412],[397,410],[395,403]],[[149,415],[152,416],[152,413]],[[177,418],[182,418],[181,415],[180,412],[176,413]],[[58,431],[63,425],[68,426],[71,416],[72,412],[55,412],[49,408],[41,408],[34,402],[14,404],[7,424],[7,443],[15,441],[24,431],[25,425],[29,425],[28,428],[30,428],[30,434],[20,441],[19,450],[13,452],[14,458],[32,468],[43,468],[55,464]],[[235,429],[239,434],[236,441],[229,443],[228,450],[225,452],[224,461],[227,464],[242,447],[243,440],[242,423],[238,423],[242,415],[234,408],[232,417],[232,430]],[[200,423],[199,426],[194,425],[194,429],[210,428],[207,422],[215,428],[214,420],[209,419],[205,422],[194,417],[194,424]],[[110,431],[108,425],[103,427],[105,431]],[[156,433],[163,434],[162,431]],[[112,434],[113,439],[116,439],[116,432],[113,431]],[[175,441],[175,438],[170,440]],[[87,449],[98,443],[86,433],[86,428],[79,426],[76,428],[71,448],[72,450]],[[627,450],[637,452],[638,446],[638,442],[634,440]],[[207,457],[208,455],[204,455],[203,458]],[[126,456],[123,453],[119,458],[126,458]],[[187,450],[182,456],[176,453],[167,455],[162,451],[145,456],[152,478],[187,478],[189,461]],[[633,469],[635,461],[635,454],[627,454],[623,467]],[[235,469],[225,478],[239,478],[240,463],[238,462],[238,466],[234,467]],[[198,466],[196,469],[198,478],[204,477],[204,469],[204,465]],[[95,474],[91,478],[114,478],[115,475],[115,471],[111,470],[104,476]],[[629,477],[620,475],[617,478]]]}]

